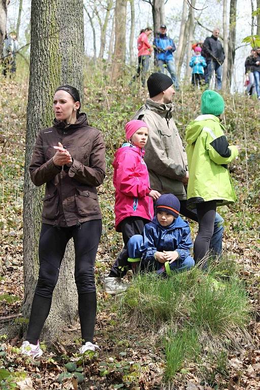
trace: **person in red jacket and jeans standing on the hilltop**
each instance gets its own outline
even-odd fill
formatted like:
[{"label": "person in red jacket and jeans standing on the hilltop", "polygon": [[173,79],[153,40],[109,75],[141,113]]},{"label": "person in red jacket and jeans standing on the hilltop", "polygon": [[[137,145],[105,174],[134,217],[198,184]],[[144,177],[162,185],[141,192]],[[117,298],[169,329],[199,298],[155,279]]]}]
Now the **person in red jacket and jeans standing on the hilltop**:
[{"label": "person in red jacket and jeans standing on the hilltop", "polygon": [[146,74],[149,69],[150,56],[152,52],[152,45],[148,41],[148,37],[151,34],[152,34],[151,27],[146,27],[144,30],[141,30],[140,32],[140,35],[137,40],[138,68],[137,68],[137,73],[133,77],[131,84],[141,74],[142,86],[145,87]]}]

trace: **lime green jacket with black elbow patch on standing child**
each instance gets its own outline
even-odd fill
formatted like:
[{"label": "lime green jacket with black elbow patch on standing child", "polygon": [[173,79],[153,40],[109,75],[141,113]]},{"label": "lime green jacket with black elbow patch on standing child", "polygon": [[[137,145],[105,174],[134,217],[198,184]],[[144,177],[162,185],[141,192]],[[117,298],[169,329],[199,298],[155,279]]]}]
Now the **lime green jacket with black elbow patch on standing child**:
[{"label": "lime green jacket with black elbow patch on standing child", "polygon": [[238,155],[238,149],[229,145],[223,130],[214,115],[200,115],[186,128],[189,209],[201,202],[216,200],[222,206],[237,200],[226,164]]}]

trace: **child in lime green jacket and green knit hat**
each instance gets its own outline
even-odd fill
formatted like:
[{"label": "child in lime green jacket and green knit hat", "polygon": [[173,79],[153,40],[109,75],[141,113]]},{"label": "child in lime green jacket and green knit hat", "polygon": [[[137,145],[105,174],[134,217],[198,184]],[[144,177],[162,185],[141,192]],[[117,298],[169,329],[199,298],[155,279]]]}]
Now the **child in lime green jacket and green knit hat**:
[{"label": "child in lime green jacket and green knit hat", "polygon": [[238,148],[224,136],[220,115],[224,112],[222,96],[207,89],[201,97],[201,112],[186,128],[189,180],[187,207],[197,209],[199,232],[194,241],[194,261],[207,268],[214,229],[216,207],[236,201],[227,164],[238,156]]}]

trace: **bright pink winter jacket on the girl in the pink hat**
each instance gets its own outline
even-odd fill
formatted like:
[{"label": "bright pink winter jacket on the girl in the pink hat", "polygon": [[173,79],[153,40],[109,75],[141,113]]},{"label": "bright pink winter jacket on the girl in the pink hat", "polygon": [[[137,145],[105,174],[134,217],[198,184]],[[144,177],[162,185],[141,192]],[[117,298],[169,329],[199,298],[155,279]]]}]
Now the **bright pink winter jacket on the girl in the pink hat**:
[{"label": "bright pink winter jacket on the girl in the pink hat", "polygon": [[153,201],[148,197],[151,188],[143,160],[144,153],[144,149],[129,143],[115,152],[113,184],[117,232],[121,232],[118,224],[126,217],[153,218]]}]

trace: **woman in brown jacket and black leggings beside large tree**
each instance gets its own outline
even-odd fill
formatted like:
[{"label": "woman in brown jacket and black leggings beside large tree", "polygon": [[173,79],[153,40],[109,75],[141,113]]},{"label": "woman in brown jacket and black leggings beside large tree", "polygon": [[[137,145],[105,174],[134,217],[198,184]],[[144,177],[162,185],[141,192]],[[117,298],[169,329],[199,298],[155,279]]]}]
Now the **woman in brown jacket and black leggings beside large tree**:
[{"label": "woman in brown jacket and black leggings beside large tree", "polygon": [[21,353],[39,358],[39,337],[49,314],[53,289],[68,241],[75,247],[75,281],[83,345],[93,344],[96,315],[94,264],[102,232],[96,187],[105,178],[105,145],[101,132],[80,111],[76,88],[63,85],[53,99],[52,127],[40,131],[29,166],[32,182],[46,184],[39,241],[39,278],[28,332]]}]

